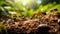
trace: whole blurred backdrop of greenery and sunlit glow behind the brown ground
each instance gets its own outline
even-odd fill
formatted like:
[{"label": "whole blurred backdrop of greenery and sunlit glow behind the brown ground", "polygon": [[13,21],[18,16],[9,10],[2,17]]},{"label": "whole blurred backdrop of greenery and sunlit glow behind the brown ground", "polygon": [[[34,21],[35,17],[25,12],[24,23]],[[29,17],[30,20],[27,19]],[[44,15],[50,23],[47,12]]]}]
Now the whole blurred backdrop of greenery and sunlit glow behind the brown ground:
[{"label": "whole blurred backdrop of greenery and sunlit glow behind the brown ground", "polygon": [[[0,22],[13,17],[31,18],[34,13],[50,13],[50,10],[54,8],[57,8],[60,13],[60,0],[0,0]],[[6,26],[1,23],[0,31],[7,32]]]}]

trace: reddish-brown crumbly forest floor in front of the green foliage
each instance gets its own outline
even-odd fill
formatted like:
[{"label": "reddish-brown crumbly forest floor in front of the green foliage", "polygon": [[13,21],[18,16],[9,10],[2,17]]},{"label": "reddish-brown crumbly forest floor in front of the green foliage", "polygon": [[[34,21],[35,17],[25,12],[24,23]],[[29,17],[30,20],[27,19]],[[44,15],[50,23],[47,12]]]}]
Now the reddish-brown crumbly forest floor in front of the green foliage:
[{"label": "reddish-brown crumbly forest floor in front of the green foliage", "polygon": [[39,19],[8,19],[2,22],[7,31],[0,34],[60,34],[60,14],[48,14]]}]

